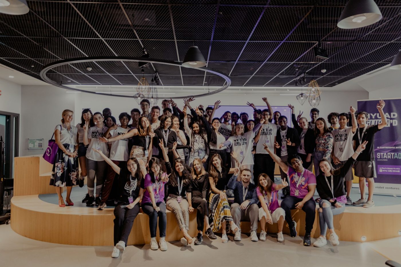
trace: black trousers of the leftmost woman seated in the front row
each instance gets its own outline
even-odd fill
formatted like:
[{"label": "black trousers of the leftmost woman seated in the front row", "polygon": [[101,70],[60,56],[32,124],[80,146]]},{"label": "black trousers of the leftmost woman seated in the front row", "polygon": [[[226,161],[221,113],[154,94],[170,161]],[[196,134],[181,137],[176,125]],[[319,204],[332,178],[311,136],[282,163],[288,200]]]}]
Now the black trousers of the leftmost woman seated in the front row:
[{"label": "black trousers of the leftmost woman seated in the front row", "polygon": [[114,208],[114,245],[118,241],[124,241],[127,245],[128,236],[131,233],[134,220],[139,213],[139,204],[134,208],[121,208],[120,204]]}]

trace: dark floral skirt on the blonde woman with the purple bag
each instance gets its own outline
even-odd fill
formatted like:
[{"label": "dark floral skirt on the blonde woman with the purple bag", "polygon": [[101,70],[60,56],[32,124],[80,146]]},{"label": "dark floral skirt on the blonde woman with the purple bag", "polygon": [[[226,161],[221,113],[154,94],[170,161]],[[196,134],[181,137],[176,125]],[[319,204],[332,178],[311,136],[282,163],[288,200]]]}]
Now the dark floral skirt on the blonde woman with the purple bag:
[{"label": "dark floral skirt on the blonde woman with the purple bag", "polygon": [[[69,150],[69,144],[63,144]],[[78,184],[78,158],[70,158],[63,152],[57,150],[56,162],[53,164],[50,185],[52,186],[74,186]]]}]

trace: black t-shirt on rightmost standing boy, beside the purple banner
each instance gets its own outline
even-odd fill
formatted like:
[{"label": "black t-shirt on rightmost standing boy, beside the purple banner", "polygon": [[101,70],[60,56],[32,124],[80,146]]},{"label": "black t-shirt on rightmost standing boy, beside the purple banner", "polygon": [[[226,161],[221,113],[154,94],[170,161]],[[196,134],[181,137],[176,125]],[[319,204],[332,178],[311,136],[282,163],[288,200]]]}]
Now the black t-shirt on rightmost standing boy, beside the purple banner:
[{"label": "black t-shirt on rightmost standing boy, beside the purple banner", "polygon": [[[367,129],[365,130],[365,133],[362,136],[363,130],[364,128],[367,127]],[[358,158],[356,158],[356,161],[371,161],[371,160],[375,160],[375,134],[377,131],[380,131],[378,125],[369,125],[369,126],[365,126],[364,128],[358,128],[356,130],[356,133],[354,134],[354,137],[352,138],[352,140],[356,141],[356,146],[355,149],[358,148],[358,146],[360,145],[359,143],[359,138],[358,138],[358,134],[359,137],[361,138],[361,141],[368,141],[368,144],[366,144],[366,148],[365,150],[363,150],[362,152],[360,152]]]}]

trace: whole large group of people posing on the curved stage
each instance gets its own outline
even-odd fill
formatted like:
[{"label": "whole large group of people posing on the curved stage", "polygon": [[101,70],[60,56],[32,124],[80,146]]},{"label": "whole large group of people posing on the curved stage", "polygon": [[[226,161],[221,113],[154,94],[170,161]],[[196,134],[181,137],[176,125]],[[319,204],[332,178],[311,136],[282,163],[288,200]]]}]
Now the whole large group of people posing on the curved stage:
[{"label": "whole large group of people posing on the curved stage", "polygon": [[[220,101],[205,110],[202,105],[193,108],[193,100],[184,99],[181,110],[171,99],[163,100],[161,109],[143,99],[141,110],[119,114],[118,124],[108,108],[102,113],[83,109],[76,126],[71,124],[73,111],[63,111],[61,124],[55,127],[59,150],[50,184],[56,187],[60,207],[74,205],[72,186],[83,187],[85,177],[87,194],[82,202],[87,206],[103,210],[114,200],[112,257],[125,249],[140,208],[149,216],[150,248],[165,251],[167,209],[176,218],[183,245],[201,244],[204,231],[209,239],[217,239],[214,233],[221,230],[222,243],[229,241],[227,232],[231,231],[234,241],[240,241],[243,220],[250,221],[251,241],[265,241],[266,224],[277,223],[277,241],[283,242],[285,221],[290,236],[297,236],[291,210],[302,209],[303,244],[310,246],[318,212],[320,237],[313,245],[322,247],[327,243],[327,228],[330,243],[339,244],[333,216],[344,212],[345,205],[375,205],[374,135],[387,125],[384,101],[377,104],[382,118],[378,125],[367,125],[368,114],[355,114],[352,106],[349,113],[330,113],[328,127],[318,109],[311,109],[308,121],[301,112],[296,117],[294,106],[288,105],[294,125],[289,127],[288,118],[273,112],[267,98],[262,98],[263,110],[247,103],[254,109],[253,119],[231,111],[214,117]],[[274,180],[275,163],[281,182]],[[354,202],[350,198],[352,166],[361,195]],[[64,201],[61,187],[65,186]],[[320,196],[317,209],[315,190]],[[188,233],[191,212],[196,212],[195,238]]]}]

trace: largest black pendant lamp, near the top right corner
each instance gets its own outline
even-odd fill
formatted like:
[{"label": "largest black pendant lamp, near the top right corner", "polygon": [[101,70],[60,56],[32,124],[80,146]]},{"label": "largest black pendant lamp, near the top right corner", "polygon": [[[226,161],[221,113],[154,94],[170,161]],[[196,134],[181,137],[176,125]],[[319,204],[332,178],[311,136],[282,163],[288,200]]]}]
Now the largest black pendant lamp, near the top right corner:
[{"label": "largest black pendant lamp, near the top right corner", "polygon": [[361,28],[381,20],[382,15],[374,0],[348,0],[337,26],[343,29]]}]

